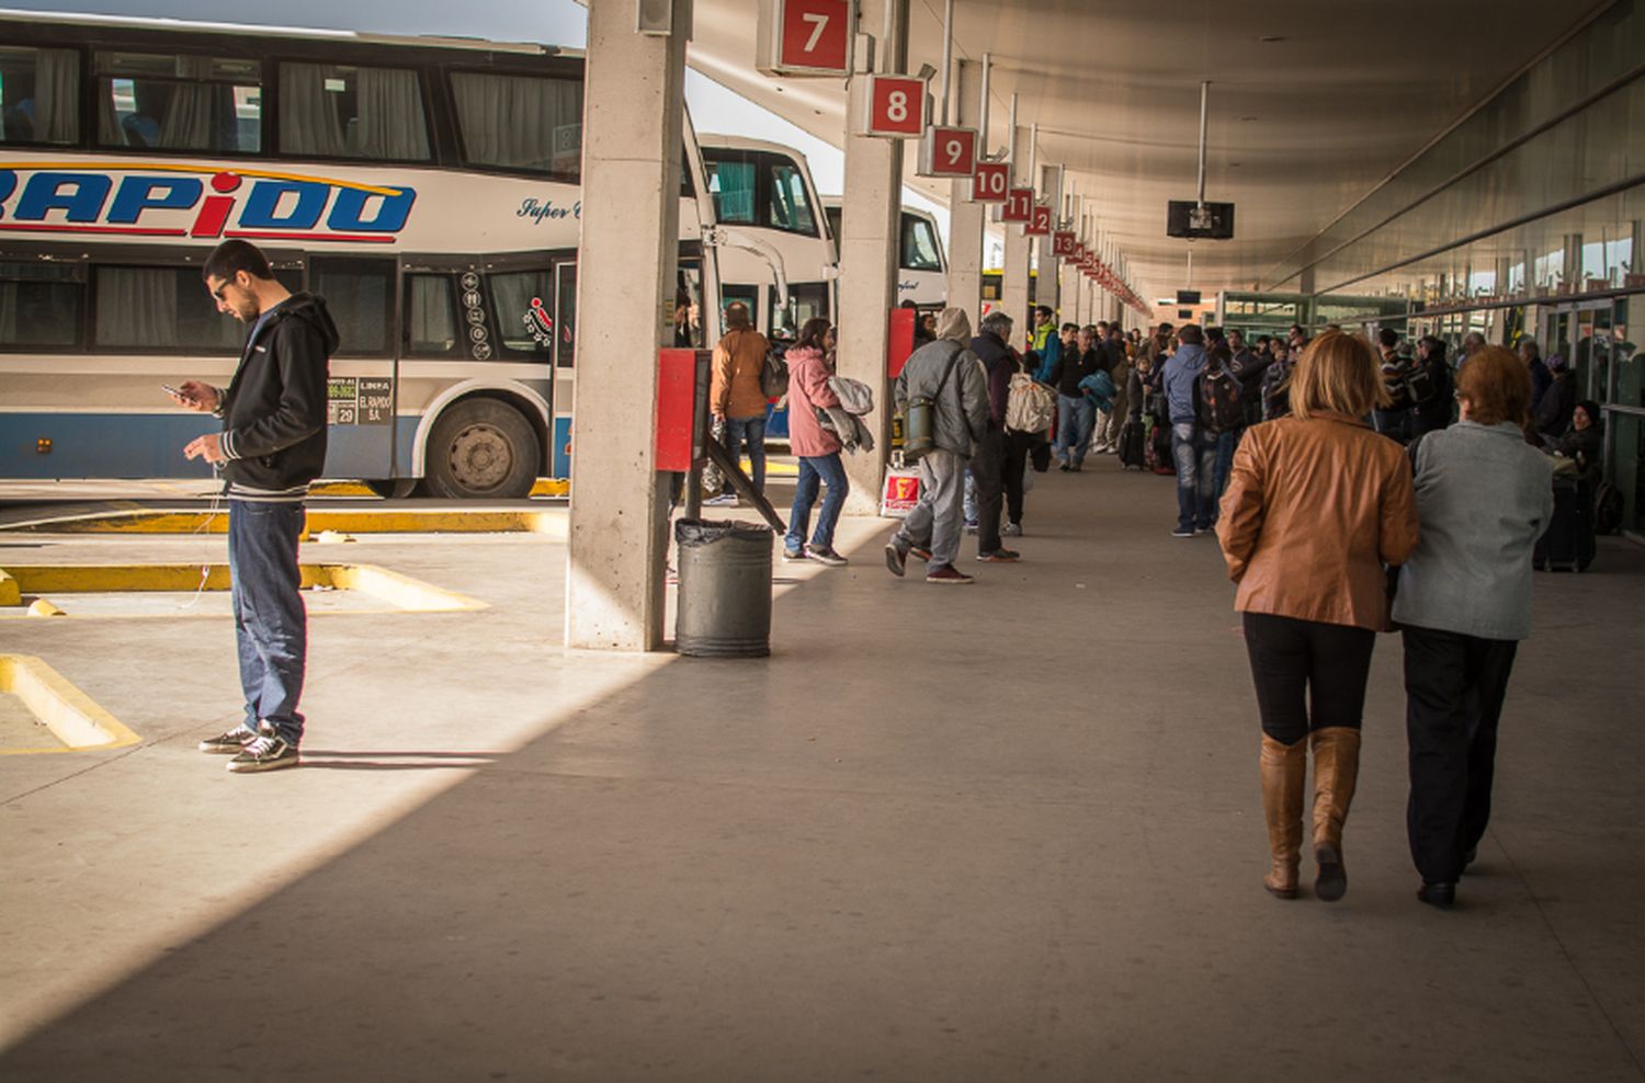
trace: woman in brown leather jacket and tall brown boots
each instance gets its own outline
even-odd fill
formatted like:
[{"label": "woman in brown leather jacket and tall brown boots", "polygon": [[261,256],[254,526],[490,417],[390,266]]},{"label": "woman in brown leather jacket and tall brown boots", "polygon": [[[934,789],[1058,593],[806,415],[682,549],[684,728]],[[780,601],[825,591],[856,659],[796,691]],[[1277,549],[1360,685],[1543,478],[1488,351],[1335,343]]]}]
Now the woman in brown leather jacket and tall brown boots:
[{"label": "woman in brown leather jacket and tall brown boots", "polygon": [[[1314,749],[1314,894],[1341,899],[1342,822],[1359,777],[1359,723],[1377,633],[1388,631],[1383,565],[1416,547],[1411,465],[1364,422],[1387,404],[1377,355],[1336,330],[1291,373],[1291,414],[1245,432],[1217,536],[1239,583],[1262,715],[1262,807],[1273,868],[1263,886],[1296,897],[1303,776]],[[1309,710],[1311,708],[1311,710]]]}]

